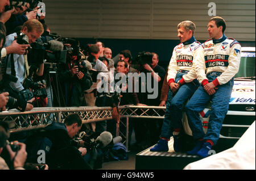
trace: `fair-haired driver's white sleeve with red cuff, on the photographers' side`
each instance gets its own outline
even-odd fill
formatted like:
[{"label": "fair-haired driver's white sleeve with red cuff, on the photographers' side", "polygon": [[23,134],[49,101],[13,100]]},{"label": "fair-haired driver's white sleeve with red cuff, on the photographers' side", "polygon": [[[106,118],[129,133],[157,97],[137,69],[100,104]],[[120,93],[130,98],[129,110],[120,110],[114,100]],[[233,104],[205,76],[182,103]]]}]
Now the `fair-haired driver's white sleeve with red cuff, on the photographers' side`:
[{"label": "fair-haired driver's white sleeve with red cuff, on the photographers' side", "polygon": [[176,47],[175,47],[174,51],[172,52],[170,64],[168,66],[168,75],[167,75],[168,85],[170,85],[171,82],[175,82],[175,78],[178,70],[179,68],[177,66],[177,61],[176,61]]}]

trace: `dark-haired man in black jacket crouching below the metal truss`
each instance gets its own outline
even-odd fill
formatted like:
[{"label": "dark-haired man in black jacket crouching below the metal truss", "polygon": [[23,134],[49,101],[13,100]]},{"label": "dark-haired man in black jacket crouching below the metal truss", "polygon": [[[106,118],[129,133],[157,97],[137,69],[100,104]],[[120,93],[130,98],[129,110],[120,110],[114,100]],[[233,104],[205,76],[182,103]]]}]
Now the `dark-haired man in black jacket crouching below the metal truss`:
[{"label": "dark-haired man in black jacket crouching below the metal truss", "polygon": [[28,156],[31,156],[30,150],[34,149],[35,144],[32,140],[38,139],[38,136],[44,136],[52,142],[51,149],[46,154],[46,163],[50,170],[91,169],[83,158],[87,153],[86,148],[80,146],[77,148],[77,143],[72,140],[81,127],[82,120],[80,116],[77,113],[69,113],[64,123],[53,122],[42,132],[36,133],[27,139]]}]

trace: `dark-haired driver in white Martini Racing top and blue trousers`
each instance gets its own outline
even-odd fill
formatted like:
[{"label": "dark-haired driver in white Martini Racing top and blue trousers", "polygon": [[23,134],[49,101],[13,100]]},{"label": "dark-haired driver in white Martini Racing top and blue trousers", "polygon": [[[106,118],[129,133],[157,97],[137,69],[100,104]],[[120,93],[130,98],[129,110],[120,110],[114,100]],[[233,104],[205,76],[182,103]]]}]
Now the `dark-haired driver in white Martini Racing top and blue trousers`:
[{"label": "dark-haired driver in white Martini Racing top and blue trousers", "polygon": [[[207,157],[208,151],[220,136],[220,130],[229,108],[234,75],[239,70],[241,45],[224,34],[225,20],[215,16],[209,20],[208,33],[211,39],[197,47],[195,70],[201,86],[185,107],[188,123],[196,141],[188,154]],[[199,112],[212,101],[208,130],[205,134]]]}]

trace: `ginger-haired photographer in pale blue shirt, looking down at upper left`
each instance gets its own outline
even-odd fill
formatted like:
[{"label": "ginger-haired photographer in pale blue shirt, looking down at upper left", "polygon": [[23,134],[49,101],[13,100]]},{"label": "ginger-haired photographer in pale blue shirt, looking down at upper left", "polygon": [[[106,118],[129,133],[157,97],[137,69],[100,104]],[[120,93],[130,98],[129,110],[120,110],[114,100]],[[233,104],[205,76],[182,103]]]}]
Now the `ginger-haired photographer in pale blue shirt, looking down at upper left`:
[{"label": "ginger-haired photographer in pale blue shirt, looking down at upper left", "polygon": [[[30,44],[34,43],[36,39],[38,39],[43,33],[43,26],[42,24],[35,19],[28,20],[26,23],[23,24],[22,30],[20,31],[19,36],[17,33],[13,33],[6,37],[6,43],[5,47],[8,47],[13,43],[15,40],[15,37],[21,37],[22,43]],[[25,41],[25,42],[24,42]],[[25,51],[24,51],[25,53]],[[5,85],[5,90],[9,92],[11,96],[14,98],[20,98],[19,92],[24,90],[23,82],[26,79],[26,77],[29,75],[28,72],[28,63],[26,60],[26,55],[23,54],[9,54],[7,56],[7,68],[6,68],[6,74],[12,75],[13,77],[16,77],[18,79],[16,82],[10,81],[9,85]],[[21,96],[22,97],[22,96]],[[31,102],[34,100],[32,98],[31,100],[28,100],[27,103],[31,104]],[[26,100],[25,100],[26,101]],[[25,108],[27,107],[27,108]],[[29,106],[23,106],[19,110],[31,110],[33,108],[32,104]]]}]

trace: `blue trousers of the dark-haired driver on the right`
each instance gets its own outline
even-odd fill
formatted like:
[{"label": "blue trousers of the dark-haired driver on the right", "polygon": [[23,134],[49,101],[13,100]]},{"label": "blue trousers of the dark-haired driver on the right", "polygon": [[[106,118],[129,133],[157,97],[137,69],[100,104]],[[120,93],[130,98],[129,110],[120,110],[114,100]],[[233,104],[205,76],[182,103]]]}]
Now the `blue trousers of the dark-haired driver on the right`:
[{"label": "blue trousers of the dark-haired driver on the right", "polygon": [[[219,75],[221,75],[220,72],[214,71],[207,74],[207,78],[209,82],[212,82]],[[193,94],[185,107],[185,111],[188,116],[189,127],[191,128],[195,140],[203,138],[204,140],[211,140],[213,145],[216,144],[220,137],[223,120],[228,112],[233,85],[234,79],[232,78],[224,85],[218,85],[218,89],[213,95],[209,95],[203,85]],[[205,134],[199,112],[204,110],[210,100],[212,100],[212,110],[210,111],[208,130]]]}]

